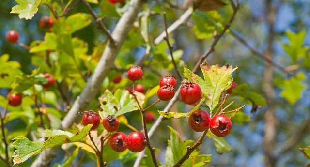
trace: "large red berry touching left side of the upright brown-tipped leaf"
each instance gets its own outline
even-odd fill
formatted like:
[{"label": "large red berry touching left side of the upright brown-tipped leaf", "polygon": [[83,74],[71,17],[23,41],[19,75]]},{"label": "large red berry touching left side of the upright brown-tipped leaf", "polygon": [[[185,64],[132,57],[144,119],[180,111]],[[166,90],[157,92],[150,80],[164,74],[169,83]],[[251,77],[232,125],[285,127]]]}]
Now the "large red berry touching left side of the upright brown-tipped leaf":
[{"label": "large red berry touching left side of the upright brown-tipped leaf", "polygon": [[180,96],[184,103],[193,105],[202,98],[202,89],[193,82],[186,82],[181,86]]}]

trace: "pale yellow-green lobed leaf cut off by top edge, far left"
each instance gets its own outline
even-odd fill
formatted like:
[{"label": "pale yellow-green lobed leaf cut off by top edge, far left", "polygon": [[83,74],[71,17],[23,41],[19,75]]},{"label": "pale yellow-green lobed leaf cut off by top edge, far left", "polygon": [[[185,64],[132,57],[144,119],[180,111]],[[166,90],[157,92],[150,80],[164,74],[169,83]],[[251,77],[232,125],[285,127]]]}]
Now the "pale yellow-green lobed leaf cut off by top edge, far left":
[{"label": "pale yellow-green lobed leaf cut off by top edge, far left", "polygon": [[31,19],[38,11],[41,0],[15,0],[18,5],[12,8],[11,13],[19,14],[19,18]]}]

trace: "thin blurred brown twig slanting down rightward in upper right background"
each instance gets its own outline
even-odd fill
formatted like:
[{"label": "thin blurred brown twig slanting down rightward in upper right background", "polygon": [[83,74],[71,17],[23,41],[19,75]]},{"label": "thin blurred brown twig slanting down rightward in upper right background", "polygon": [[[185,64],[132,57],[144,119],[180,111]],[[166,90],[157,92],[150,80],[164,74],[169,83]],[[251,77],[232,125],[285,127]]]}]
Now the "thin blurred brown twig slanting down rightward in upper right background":
[{"label": "thin blurred brown twig slanting down rightward in upper right background", "polygon": [[265,62],[273,65],[274,67],[278,68],[280,71],[284,72],[287,76],[292,76],[290,72],[288,72],[284,67],[282,67],[280,64],[273,61],[270,57],[264,55],[263,53],[256,50],[254,47],[250,46],[245,39],[243,39],[240,35],[238,35],[236,32],[234,32],[232,29],[230,29],[231,34],[233,37],[238,40],[241,44],[243,44],[250,52],[252,52],[254,55],[262,58]]}]

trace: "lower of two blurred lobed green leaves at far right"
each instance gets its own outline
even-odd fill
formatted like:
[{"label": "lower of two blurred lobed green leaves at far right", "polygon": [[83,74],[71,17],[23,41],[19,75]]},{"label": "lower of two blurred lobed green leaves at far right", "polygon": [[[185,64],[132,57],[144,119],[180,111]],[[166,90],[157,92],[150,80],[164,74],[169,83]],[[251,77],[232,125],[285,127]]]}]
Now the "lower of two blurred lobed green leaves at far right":
[{"label": "lower of two blurred lobed green leaves at far right", "polygon": [[299,73],[296,76],[284,81],[283,91],[280,96],[284,97],[289,103],[295,104],[302,97],[302,92],[306,89],[303,81],[306,79],[304,73]]}]

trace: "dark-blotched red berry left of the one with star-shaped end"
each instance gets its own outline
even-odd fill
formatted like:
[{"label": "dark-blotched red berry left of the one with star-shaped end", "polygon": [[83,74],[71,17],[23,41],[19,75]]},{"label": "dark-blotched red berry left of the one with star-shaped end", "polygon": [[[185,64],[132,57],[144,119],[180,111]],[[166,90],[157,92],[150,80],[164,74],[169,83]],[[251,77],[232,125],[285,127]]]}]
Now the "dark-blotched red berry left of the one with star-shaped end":
[{"label": "dark-blotched red berry left of the one with star-shaped end", "polygon": [[203,110],[198,110],[190,114],[188,124],[194,131],[203,132],[209,129],[210,120],[209,113]]}]

